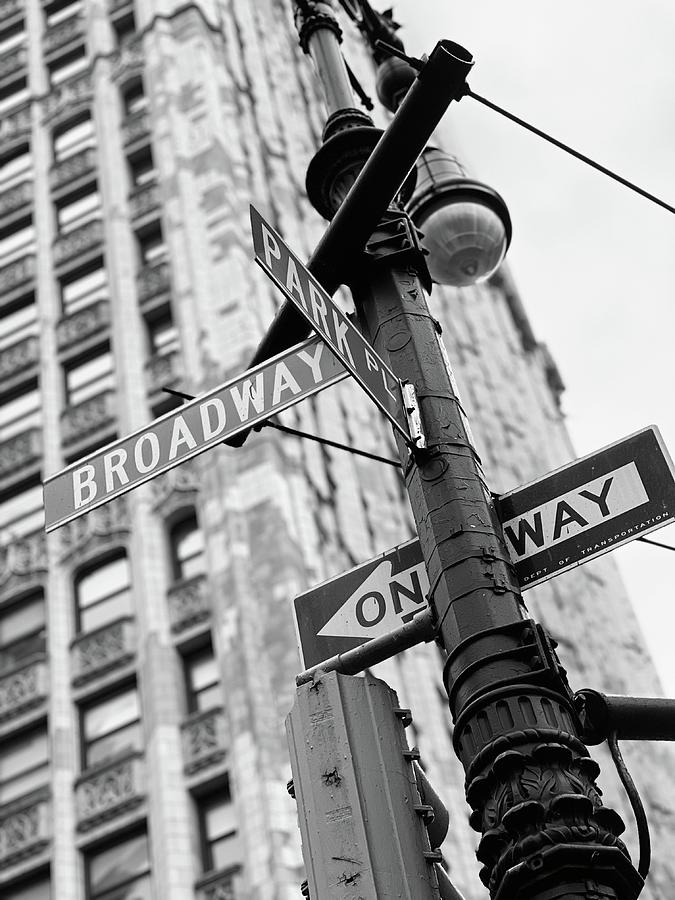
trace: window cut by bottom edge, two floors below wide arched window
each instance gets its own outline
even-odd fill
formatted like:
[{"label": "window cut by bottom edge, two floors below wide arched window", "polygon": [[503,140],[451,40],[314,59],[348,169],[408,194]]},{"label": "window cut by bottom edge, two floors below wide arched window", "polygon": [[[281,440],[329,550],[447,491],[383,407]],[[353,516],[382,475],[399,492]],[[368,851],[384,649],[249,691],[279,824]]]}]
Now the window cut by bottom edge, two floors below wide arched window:
[{"label": "window cut by bottom edge, two floors below wide arched window", "polygon": [[152,900],[147,834],[87,854],[88,900]]}]

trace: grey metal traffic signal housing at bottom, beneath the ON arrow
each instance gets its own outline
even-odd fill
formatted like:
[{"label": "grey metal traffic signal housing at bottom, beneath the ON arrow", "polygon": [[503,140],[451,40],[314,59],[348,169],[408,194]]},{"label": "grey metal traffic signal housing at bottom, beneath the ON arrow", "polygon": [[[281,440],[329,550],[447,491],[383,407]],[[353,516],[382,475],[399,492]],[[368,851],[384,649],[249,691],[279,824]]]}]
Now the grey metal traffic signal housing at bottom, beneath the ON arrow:
[{"label": "grey metal traffic signal housing at bottom, beneath the ON arrow", "polygon": [[408,747],[410,722],[371,675],[321,673],[298,688],[286,719],[289,791],[312,900],[459,898],[437,866],[447,810]]}]

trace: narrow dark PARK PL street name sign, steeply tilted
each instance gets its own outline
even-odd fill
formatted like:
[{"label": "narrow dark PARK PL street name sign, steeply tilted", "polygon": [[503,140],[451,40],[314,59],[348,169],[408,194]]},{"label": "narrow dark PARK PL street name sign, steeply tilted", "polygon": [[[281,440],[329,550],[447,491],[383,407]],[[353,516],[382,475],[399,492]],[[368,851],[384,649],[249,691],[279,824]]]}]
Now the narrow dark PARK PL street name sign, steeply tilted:
[{"label": "narrow dark PARK PL street name sign, steeply tilted", "polygon": [[251,206],[255,260],[303,316],[408,444],[414,444],[404,413],[401,382],[305,264]]}]

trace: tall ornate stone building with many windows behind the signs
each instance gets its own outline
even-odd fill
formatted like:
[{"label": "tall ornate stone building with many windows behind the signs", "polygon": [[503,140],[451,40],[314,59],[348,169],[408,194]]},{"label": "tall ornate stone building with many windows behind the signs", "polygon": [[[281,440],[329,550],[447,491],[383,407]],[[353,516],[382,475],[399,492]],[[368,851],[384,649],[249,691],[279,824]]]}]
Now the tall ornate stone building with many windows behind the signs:
[{"label": "tall ornate stone building with many windows behind the signs", "polygon": [[[42,530],[41,480],[246,367],[275,305],[248,205],[309,255],[323,126],[289,0],[0,0],[0,893],[291,900],[291,598],[411,533],[394,469],[271,429]],[[368,82],[352,34],[350,61]],[[496,491],[574,456],[562,383],[503,271],[433,306]],[[392,450],[347,382],[284,421]],[[575,687],[658,690],[609,557],[527,594]],[[477,878],[433,645],[378,674]],[[634,826],[600,752],[607,801]],[[629,748],[672,896],[672,759]],[[50,888],[51,885],[51,888]]]}]

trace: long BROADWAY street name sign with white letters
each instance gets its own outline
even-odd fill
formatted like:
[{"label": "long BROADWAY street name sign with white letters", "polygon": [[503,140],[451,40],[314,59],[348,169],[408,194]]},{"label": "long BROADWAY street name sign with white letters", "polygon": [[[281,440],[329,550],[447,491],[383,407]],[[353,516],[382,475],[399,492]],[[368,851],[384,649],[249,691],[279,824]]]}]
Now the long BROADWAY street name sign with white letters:
[{"label": "long BROADWAY street name sign with white letters", "polygon": [[45,531],[347,377],[319,337],[279,353],[47,478]]}]

